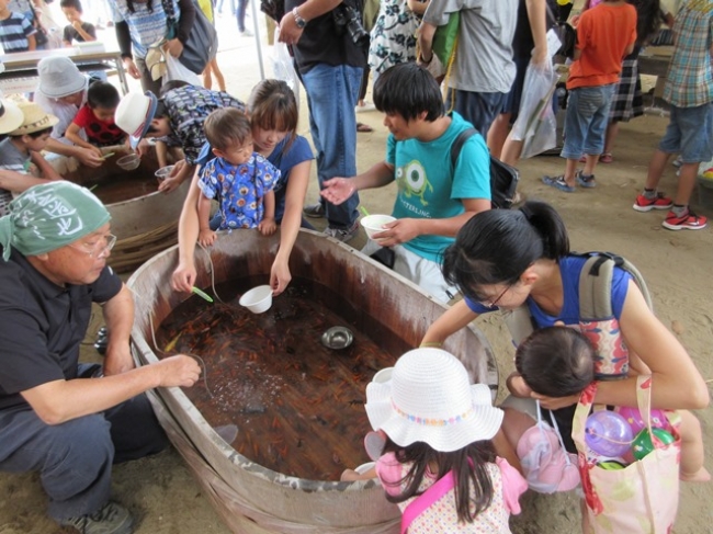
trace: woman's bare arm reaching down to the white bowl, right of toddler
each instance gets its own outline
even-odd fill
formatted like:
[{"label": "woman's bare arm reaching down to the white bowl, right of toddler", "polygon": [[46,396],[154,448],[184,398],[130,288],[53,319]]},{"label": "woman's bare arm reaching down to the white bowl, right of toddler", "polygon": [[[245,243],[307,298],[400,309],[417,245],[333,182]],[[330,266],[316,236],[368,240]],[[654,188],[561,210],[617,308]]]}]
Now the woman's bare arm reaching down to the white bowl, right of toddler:
[{"label": "woman's bare arm reaching down to the white bowl, right of toddler", "polygon": [[297,163],[290,170],[287,193],[285,195],[285,213],[280,225],[280,248],[270,270],[270,286],[274,295],[280,295],[292,280],[290,273],[290,254],[297,239],[302,225],[302,208],[309,184],[312,160]]}]

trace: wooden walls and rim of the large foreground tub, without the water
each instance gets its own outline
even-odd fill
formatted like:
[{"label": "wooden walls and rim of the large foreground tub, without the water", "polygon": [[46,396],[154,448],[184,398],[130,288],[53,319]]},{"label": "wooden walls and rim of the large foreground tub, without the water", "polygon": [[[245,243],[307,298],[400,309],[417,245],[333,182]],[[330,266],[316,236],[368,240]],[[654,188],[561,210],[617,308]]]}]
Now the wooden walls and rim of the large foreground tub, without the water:
[{"label": "wooden walls and rim of the large foreground tub, without the water", "polygon": [[[254,230],[220,234],[211,249],[216,284],[265,275],[278,245],[278,236],[264,238]],[[185,298],[170,288],[177,260],[177,248],[166,250],[142,265],[128,281],[136,295],[132,341],[139,364],[157,361],[151,328],[158,327]],[[196,253],[196,286],[210,287],[208,262],[202,251]],[[290,268],[293,277],[318,281],[338,292],[411,346],[418,345],[428,326],[446,309],[418,286],[322,234],[299,231]],[[490,384],[495,396],[497,367],[478,330],[469,327],[457,332],[445,349],[462,359],[474,379]],[[180,388],[159,389],[157,394],[152,400],[161,424],[234,532],[398,532],[400,513],[385,500],[376,480],[318,481],[275,473],[228,445]]]}]

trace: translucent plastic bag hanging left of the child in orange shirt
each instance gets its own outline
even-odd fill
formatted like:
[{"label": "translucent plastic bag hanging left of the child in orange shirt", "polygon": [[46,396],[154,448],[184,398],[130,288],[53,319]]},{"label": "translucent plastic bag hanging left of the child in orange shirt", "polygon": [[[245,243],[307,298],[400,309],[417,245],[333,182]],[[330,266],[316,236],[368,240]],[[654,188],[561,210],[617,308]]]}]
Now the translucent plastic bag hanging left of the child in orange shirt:
[{"label": "translucent plastic bag hanging left of the child in orange shirt", "polygon": [[512,138],[521,140],[521,158],[527,159],[557,145],[557,120],[552,109],[559,76],[552,68],[528,65],[522,86],[518,120],[512,125]]}]

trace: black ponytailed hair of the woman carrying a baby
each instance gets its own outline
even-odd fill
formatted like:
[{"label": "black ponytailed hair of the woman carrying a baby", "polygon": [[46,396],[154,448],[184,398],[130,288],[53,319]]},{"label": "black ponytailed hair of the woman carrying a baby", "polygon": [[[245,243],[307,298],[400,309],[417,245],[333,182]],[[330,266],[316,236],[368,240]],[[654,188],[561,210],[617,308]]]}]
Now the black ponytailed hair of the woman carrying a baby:
[{"label": "black ponytailed hair of the woman carrying a baby", "polygon": [[535,261],[569,253],[559,214],[544,202],[519,209],[488,209],[473,216],[443,253],[443,276],[461,293],[484,300],[485,285],[513,285]]}]

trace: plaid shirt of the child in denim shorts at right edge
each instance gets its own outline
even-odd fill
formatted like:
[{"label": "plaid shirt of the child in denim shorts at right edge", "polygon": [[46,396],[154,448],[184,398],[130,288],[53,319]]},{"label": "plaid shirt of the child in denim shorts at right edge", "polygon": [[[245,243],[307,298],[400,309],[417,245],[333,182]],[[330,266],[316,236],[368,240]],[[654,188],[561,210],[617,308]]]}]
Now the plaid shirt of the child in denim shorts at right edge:
[{"label": "plaid shirt of the child in denim shorts at right edge", "polygon": [[713,102],[711,46],[713,1],[689,0],[674,24],[675,48],[666,75],[664,100],[678,107],[697,107]]}]

